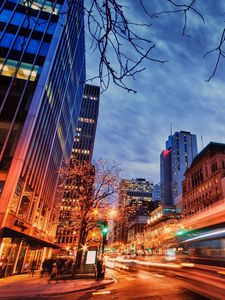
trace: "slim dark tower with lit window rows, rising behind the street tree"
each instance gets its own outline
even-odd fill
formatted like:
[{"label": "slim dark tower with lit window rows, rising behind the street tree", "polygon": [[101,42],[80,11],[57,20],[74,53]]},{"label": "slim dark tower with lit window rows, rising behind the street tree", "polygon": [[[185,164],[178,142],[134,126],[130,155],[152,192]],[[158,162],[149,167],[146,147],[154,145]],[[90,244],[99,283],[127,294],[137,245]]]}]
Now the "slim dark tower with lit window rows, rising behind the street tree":
[{"label": "slim dark tower with lit window rows, rising behind the street tree", "polygon": [[[95,134],[99,112],[100,88],[94,85],[85,85],[79,121],[76,128],[76,136],[72,150],[73,158],[78,161],[92,160]],[[76,205],[76,182],[72,174],[67,178],[61,205],[59,226],[56,242],[63,251],[74,254],[74,247],[78,237],[77,224],[74,220],[74,206]],[[76,181],[76,180],[75,180]],[[69,226],[68,226],[69,225]],[[79,225],[79,223],[78,223]]]}]

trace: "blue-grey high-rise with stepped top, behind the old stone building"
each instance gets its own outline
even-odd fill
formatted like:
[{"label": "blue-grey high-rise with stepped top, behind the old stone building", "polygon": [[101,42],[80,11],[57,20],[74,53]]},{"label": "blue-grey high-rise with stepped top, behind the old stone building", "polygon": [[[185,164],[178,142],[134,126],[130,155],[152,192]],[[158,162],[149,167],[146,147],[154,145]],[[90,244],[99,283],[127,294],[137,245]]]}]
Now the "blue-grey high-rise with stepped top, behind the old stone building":
[{"label": "blue-grey high-rise with stepped top, behind the old stone building", "polygon": [[174,205],[182,194],[184,173],[197,155],[196,135],[187,131],[175,132],[168,137],[166,149],[160,156],[161,201]]}]

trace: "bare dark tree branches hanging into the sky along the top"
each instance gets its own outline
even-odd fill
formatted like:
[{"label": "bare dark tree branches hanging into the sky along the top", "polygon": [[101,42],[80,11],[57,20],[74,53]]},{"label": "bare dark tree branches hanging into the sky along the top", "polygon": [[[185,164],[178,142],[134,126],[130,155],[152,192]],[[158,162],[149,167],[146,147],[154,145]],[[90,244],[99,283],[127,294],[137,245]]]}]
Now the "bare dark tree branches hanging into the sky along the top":
[{"label": "bare dark tree branches hanging into the sky along the top", "polygon": [[[55,0],[49,0],[52,5],[52,12],[55,13]],[[135,89],[129,87],[127,78],[135,79],[136,75],[145,70],[143,63],[152,61],[157,63],[165,63],[153,56],[153,50],[156,43],[151,40],[152,32],[148,29],[152,27],[152,18],[159,18],[163,15],[176,14],[183,17],[182,35],[189,36],[187,33],[188,18],[193,15],[200,18],[205,23],[207,16],[200,10],[204,3],[200,0],[164,0],[167,8],[162,11],[150,11],[148,8],[149,1],[138,0],[142,11],[139,16],[147,14],[149,23],[146,21],[135,22],[129,17],[129,7],[119,0],[66,0],[68,10],[61,11],[60,14],[70,15],[70,7],[72,5],[82,6],[85,12],[87,33],[91,39],[91,49],[93,55],[96,55],[96,64],[98,66],[98,74],[89,78],[93,80],[99,79],[101,90],[108,89],[111,82],[117,86],[127,90],[128,92],[136,92]],[[36,0],[21,0],[21,4],[28,8],[36,6],[41,9],[41,4]],[[200,8],[197,8],[197,4]],[[81,8],[81,7],[80,7]],[[144,20],[144,18],[143,18]],[[144,33],[148,30],[148,34]],[[225,28],[224,28],[225,29]],[[147,38],[146,38],[147,36]],[[155,37],[157,41],[157,37]],[[205,56],[216,52],[217,59],[210,80],[216,73],[220,60],[224,58],[224,30],[217,46],[212,46],[212,50],[208,51]],[[154,51],[155,53],[155,51]]]}]

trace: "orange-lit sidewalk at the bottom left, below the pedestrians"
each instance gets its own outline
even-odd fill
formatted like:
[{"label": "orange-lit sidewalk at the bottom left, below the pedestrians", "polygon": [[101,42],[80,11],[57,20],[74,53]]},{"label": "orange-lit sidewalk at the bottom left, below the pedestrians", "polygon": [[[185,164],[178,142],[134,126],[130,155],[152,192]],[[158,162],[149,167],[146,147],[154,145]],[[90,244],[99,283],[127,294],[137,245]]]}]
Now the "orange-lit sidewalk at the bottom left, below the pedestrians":
[{"label": "orange-lit sidewalk at the bottom left, below the pedestrians", "polygon": [[0,279],[0,299],[38,299],[40,296],[60,295],[89,289],[98,289],[114,282],[106,272],[105,279],[95,278],[74,280],[52,280],[39,277],[39,272],[32,277],[28,274],[15,275]]}]

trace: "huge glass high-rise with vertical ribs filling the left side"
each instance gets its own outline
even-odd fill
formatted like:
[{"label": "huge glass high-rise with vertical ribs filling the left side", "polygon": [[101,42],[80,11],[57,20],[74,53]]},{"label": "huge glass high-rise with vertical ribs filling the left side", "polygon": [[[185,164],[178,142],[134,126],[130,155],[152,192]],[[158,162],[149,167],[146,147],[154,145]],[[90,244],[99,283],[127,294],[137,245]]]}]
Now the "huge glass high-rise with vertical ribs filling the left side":
[{"label": "huge glass high-rise with vertical ribs filling the left side", "polygon": [[83,1],[1,1],[0,28],[0,257],[11,275],[53,247],[85,81]]}]

